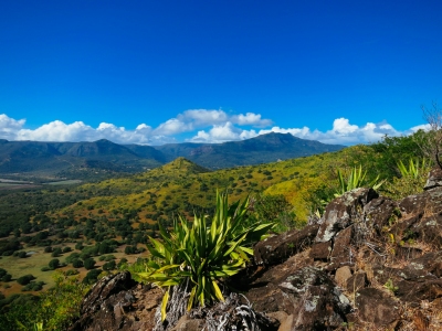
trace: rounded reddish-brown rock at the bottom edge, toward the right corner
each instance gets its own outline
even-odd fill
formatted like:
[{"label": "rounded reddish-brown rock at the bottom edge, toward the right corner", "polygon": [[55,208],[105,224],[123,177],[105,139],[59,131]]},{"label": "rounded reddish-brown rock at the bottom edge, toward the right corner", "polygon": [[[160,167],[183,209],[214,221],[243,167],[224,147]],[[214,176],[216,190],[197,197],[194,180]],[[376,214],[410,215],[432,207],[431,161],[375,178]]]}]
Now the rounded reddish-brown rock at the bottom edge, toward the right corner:
[{"label": "rounded reddish-brown rock at the bottom edge, toward the right corner", "polygon": [[377,328],[392,328],[399,320],[398,302],[376,288],[364,288],[356,293],[358,317]]}]

